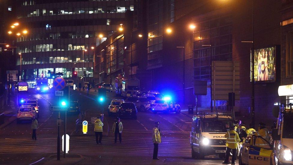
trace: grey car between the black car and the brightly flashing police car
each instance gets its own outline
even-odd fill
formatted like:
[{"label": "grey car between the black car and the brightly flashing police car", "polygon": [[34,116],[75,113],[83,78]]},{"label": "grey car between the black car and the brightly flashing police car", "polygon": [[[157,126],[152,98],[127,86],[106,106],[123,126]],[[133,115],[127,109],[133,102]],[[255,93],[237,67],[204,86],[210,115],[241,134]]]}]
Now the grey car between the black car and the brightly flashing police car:
[{"label": "grey car between the black car and the brightly flashing police car", "polygon": [[140,110],[140,111],[146,111],[149,110],[150,107],[152,107],[152,102],[147,99],[146,97],[136,97],[132,96],[125,100],[125,102],[133,102],[134,105]]}]

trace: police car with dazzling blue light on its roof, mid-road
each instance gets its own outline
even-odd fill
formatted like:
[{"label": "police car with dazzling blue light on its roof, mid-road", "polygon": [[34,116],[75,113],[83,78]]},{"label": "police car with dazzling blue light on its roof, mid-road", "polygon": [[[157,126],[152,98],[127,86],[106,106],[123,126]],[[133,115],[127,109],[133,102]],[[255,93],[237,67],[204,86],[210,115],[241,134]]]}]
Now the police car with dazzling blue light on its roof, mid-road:
[{"label": "police car with dazzling blue light on its roof, mid-road", "polygon": [[157,99],[153,103],[153,108],[151,109],[154,114],[157,112],[165,112],[165,113],[180,113],[181,108],[179,104],[176,104],[172,100],[164,100],[164,99]]}]

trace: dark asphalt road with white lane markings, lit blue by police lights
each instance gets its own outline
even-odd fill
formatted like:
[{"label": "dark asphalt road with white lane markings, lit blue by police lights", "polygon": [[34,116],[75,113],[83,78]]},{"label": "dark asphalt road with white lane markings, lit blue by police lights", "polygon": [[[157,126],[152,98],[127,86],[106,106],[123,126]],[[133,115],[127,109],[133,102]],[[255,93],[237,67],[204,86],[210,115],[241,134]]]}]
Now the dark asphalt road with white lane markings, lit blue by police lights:
[{"label": "dark asphalt road with white lane markings, lit blue by police lights", "polygon": [[[83,118],[89,119],[101,113],[101,106],[95,100],[97,94],[71,90],[71,100],[80,103]],[[17,124],[16,120],[0,129],[0,164],[30,164],[38,160],[36,164],[44,164],[50,155],[56,154],[57,150],[57,126],[58,112],[51,112],[50,105],[58,105],[59,97],[50,93],[36,94],[33,90],[22,93],[19,97],[37,98],[39,100],[39,128],[37,140],[32,140],[30,122]],[[102,145],[95,143],[93,128],[89,126],[88,134],[75,133],[75,121],[77,114],[67,115],[67,134],[70,135],[70,154],[83,156],[77,164],[221,164],[216,155],[207,156],[205,160],[193,160],[189,143],[189,131],[191,117],[180,114],[153,114],[151,112],[138,112],[137,120],[121,119],[123,123],[122,143],[114,144],[114,134],[111,131],[115,117],[109,117],[106,109],[111,99],[119,98],[114,93],[107,93],[104,103],[104,123],[109,126],[109,133],[104,127]],[[121,98],[121,97],[120,97]],[[16,101],[16,100],[15,100]],[[6,109],[9,111],[9,109]],[[17,111],[13,111],[11,117],[16,118]],[[64,113],[61,119],[64,121]],[[153,160],[152,129],[154,122],[160,122],[162,143],[159,144],[160,160]],[[89,121],[90,122],[90,121]],[[64,122],[60,129],[61,136],[64,134]],[[61,144],[62,145],[62,144]],[[63,161],[71,158],[63,158]],[[73,164],[68,163],[68,164]]]}]

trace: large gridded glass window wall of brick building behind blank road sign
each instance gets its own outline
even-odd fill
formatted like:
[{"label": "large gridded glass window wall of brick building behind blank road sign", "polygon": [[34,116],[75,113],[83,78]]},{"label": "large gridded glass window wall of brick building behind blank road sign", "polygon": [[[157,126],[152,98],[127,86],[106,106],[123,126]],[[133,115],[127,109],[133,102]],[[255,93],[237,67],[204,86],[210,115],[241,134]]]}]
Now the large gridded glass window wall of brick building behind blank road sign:
[{"label": "large gridded glass window wall of brick building behind blank road sign", "polygon": [[211,61],[232,60],[232,17],[197,22],[193,33],[193,76],[195,80],[210,79]]}]

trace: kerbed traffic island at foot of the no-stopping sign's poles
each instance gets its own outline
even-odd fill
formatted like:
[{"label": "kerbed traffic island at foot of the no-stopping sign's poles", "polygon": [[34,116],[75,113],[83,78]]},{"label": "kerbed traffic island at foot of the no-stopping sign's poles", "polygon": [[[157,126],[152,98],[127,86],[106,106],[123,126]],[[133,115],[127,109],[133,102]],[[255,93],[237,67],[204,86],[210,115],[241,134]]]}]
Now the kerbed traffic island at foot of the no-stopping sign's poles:
[{"label": "kerbed traffic island at foot of the no-stopping sign's poles", "polygon": [[66,154],[63,157],[63,153],[60,153],[60,160],[57,160],[57,154],[50,155],[48,157],[43,157],[40,160],[33,162],[32,164],[47,164],[47,165],[61,165],[61,164],[77,164],[84,160],[85,158],[80,154]]}]

